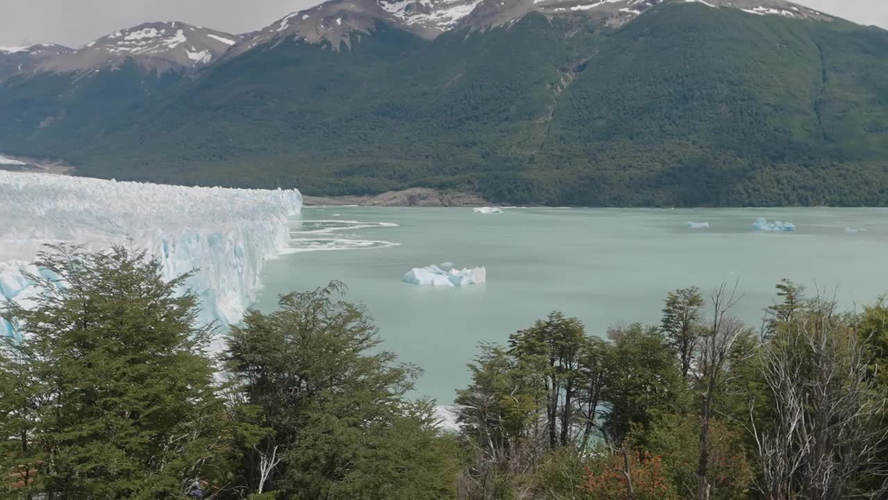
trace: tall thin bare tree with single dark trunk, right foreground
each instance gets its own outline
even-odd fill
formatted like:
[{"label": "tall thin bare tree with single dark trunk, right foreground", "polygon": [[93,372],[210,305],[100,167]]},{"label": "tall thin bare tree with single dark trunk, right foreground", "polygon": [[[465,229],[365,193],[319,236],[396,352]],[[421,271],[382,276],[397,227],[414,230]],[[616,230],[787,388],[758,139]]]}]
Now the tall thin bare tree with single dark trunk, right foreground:
[{"label": "tall thin bare tree with single dark trunk, right foreground", "polygon": [[722,283],[710,295],[712,303],[712,325],[710,331],[699,340],[698,366],[695,376],[700,386],[700,462],[697,465],[697,500],[708,500],[711,485],[707,479],[710,465],[710,420],[712,401],[721,386],[727,382],[725,364],[730,358],[734,343],[746,333],[749,327],[739,319],[728,316],[733,306],[740,302],[737,282],[732,287]]}]

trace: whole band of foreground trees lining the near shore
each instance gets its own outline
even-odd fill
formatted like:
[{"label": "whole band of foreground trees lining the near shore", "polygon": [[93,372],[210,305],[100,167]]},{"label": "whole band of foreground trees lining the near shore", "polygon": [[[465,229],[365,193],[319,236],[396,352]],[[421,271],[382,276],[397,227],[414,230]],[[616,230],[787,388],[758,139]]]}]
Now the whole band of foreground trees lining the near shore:
[{"label": "whole band of foreground trees lining the near shore", "polygon": [[784,280],[757,326],[729,285],[668,294],[659,325],[586,332],[551,312],[480,346],[448,431],[341,283],[249,312],[211,354],[197,298],[145,254],[60,246],[39,265],[39,297],[3,308],[4,498],[888,492],[884,300],[842,311]]}]

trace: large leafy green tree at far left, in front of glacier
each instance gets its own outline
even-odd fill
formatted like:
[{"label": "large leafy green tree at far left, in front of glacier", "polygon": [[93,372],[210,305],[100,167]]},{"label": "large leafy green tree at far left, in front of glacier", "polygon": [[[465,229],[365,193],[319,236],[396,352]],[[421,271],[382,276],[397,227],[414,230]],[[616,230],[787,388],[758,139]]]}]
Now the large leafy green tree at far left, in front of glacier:
[{"label": "large leafy green tree at far left, in front of glacier", "polygon": [[0,356],[0,400],[12,408],[0,425],[18,441],[6,464],[36,467],[31,489],[63,500],[172,498],[194,479],[224,486],[211,331],[196,326],[187,275],[166,281],[160,262],[120,246],[53,247],[36,264],[35,302],[4,310],[18,337]]}]

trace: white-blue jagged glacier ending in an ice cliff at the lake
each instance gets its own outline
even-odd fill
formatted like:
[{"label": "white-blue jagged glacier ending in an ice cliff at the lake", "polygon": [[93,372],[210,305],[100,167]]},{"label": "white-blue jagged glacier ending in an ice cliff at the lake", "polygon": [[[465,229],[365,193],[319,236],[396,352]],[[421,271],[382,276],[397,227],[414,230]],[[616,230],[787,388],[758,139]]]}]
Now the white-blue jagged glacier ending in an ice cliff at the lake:
[{"label": "white-blue jagged glacier ending in an ice cliff at the lake", "polygon": [[256,301],[263,262],[286,252],[302,195],[0,171],[0,206],[0,299],[31,300],[25,276],[41,272],[32,262],[44,245],[124,245],[157,257],[165,278],[194,270],[199,319],[226,326]]}]

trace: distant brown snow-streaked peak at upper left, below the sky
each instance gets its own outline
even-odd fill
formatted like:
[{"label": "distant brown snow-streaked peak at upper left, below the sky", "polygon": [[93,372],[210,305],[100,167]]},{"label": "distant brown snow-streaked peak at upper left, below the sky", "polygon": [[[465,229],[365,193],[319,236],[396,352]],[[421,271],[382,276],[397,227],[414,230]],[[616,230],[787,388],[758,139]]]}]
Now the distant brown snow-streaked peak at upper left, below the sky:
[{"label": "distant brown snow-streaked peak at upper left, below the sky", "polygon": [[52,72],[115,68],[133,60],[146,69],[192,69],[210,64],[239,40],[238,36],[184,22],[149,22],[120,29],[75,52],[41,64]]}]

